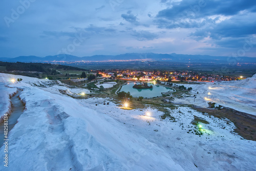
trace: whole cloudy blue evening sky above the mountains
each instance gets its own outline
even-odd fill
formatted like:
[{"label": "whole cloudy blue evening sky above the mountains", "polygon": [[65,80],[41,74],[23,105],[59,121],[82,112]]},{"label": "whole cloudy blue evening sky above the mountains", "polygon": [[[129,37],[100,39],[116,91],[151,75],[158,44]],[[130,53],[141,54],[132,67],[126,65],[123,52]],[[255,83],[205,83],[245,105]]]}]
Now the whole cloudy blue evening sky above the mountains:
[{"label": "whole cloudy blue evening sky above the mountains", "polygon": [[2,0],[1,57],[256,57],[255,0]]}]

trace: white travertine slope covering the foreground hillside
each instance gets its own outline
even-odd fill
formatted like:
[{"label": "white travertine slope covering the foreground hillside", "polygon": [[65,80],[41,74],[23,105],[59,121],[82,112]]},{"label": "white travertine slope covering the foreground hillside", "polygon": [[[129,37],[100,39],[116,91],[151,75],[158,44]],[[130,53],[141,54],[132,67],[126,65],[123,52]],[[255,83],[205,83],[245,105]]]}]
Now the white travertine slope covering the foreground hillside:
[{"label": "white travertine slope covering the foreground hillside", "polygon": [[[21,77],[23,81],[10,83],[12,77]],[[234,133],[236,126],[228,119],[176,105],[172,109],[166,107],[173,118],[163,120],[160,118],[163,112],[153,105],[123,110],[109,98],[75,99],[61,94],[59,90],[69,88],[56,81],[9,74],[0,74],[0,81],[2,116],[10,107],[9,94],[17,88],[23,90],[19,97],[26,102],[25,111],[8,134],[9,170],[233,171],[256,168],[256,141]],[[211,88],[210,93],[217,95],[223,86],[217,84]],[[239,87],[233,89],[239,90]],[[84,89],[72,91],[79,94]],[[237,99],[254,99],[254,96],[244,99],[244,94],[246,90],[239,95],[241,99]],[[190,101],[192,99],[187,103]],[[252,107],[246,107],[250,112],[253,105],[248,104]],[[4,148],[0,148],[2,160]],[[0,170],[5,170],[1,163]]]}]

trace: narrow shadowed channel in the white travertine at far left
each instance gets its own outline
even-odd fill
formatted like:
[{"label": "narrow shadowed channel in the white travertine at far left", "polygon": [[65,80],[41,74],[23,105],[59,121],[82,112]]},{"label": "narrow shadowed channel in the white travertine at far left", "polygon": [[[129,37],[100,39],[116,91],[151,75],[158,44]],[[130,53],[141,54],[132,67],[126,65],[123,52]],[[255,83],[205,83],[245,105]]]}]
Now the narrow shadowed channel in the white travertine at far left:
[{"label": "narrow shadowed channel in the white travertine at far left", "polygon": [[[9,132],[13,129],[14,125],[17,123],[18,118],[22,115],[25,107],[21,100],[19,100],[18,96],[20,91],[11,97],[12,102],[12,112],[11,115],[8,116],[8,139],[9,139]],[[0,146],[3,145],[5,139],[4,135],[4,122],[0,124]]]}]

